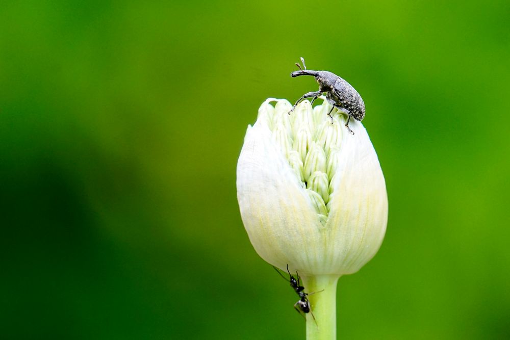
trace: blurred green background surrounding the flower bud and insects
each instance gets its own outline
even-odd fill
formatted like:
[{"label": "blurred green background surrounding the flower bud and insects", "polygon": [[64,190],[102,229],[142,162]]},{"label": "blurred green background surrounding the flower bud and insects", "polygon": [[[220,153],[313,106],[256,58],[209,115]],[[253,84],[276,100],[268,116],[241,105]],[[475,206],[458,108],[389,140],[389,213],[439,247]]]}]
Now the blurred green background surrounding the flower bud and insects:
[{"label": "blurred green background surrounding the flower bud and insects", "polygon": [[2,2],[5,339],[304,339],[236,199],[246,126],[350,82],[386,239],[344,339],[510,338],[510,3]]}]

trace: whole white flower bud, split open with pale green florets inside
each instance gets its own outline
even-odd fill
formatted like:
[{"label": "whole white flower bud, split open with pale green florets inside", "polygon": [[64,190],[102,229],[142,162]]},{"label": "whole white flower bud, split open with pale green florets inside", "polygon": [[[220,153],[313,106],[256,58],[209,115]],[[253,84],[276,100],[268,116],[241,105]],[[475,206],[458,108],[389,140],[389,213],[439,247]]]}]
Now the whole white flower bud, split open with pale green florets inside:
[{"label": "whole white flower bud, split open with pale green florets inside", "polygon": [[[273,108],[269,102],[276,101]],[[266,100],[246,131],[237,166],[241,217],[257,253],[307,275],[358,271],[384,238],[388,199],[361,122],[324,102]]]}]

